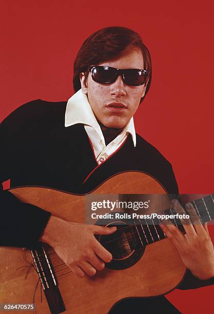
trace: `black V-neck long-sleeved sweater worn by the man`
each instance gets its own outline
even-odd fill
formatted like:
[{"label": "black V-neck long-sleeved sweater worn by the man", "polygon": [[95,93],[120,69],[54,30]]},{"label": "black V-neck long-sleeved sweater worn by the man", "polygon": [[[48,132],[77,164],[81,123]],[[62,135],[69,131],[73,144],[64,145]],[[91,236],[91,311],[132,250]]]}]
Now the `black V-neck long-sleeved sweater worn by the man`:
[{"label": "black V-neck long-sleeved sweater worn by the man", "polygon": [[[66,128],[65,110],[66,102],[36,100],[19,107],[2,122],[1,182],[10,179],[11,187],[46,186],[83,194],[115,173],[140,170],[157,179],[168,193],[178,194],[170,163],[138,134],[136,147],[129,135],[124,145],[97,167],[84,126]],[[35,246],[50,213],[21,203],[9,191],[1,191],[0,202],[0,245]],[[212,283],[214,280],[200,281],[188,272],[181,287]]]}]

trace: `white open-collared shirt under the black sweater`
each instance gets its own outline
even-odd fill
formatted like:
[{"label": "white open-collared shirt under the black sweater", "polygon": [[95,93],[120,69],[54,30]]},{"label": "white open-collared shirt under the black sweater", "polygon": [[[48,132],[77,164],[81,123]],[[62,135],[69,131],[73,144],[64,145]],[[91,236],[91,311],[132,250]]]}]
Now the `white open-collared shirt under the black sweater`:
[{"label": "white open-collared shirt under the black sweater", "polygon": [[125,142],[128,133],[132,136],[134,147],[136,146],[133,117],[131,117],[121,133],[106,146],[101,127],[91,109],[88,97],[81,89],[68,100],[65,112],[65,127],[77,123],[84,124],[98,164],[109,158]]}]

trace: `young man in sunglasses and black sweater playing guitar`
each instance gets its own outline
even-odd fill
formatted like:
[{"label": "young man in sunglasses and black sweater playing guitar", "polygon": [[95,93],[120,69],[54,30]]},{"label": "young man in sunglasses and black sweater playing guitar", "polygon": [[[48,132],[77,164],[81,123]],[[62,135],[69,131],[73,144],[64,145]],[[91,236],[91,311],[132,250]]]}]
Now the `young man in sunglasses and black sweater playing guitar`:
[{"label": "young man in sunglasses and black sweater playing guitar", "polygon": [[[3,121],[1,181],[11,179],[11,187],[40,185],[86,193],[115,173],[139,170],[168,193],[178,194],[169,162],[135,134],[133,115],[150,83],[150,54],[137,33],[123,27],[95,32],[77,53],[76,93],[67,103],[33,101]],[[93,276],[111,261],[94,234],[110,234],[115,228],[64,221],[19,202],[8,191],[1,193],[1,203],[1,245],[30,248],[46,242],[79,277]],[[180,209],[178,203],[174,206]],[[181,288],[213,284],[214,252],[207,227],[189,225],[186,235],[173,226],[161,227],[189,269]],[[141,312],[142,300],[137,299],[119,303],[112,313],[133,312],[133,302],[139,305],[135,313]],[[178,312],[164,298],[145,301],[144,311],[160,306],[164,313]]]}]

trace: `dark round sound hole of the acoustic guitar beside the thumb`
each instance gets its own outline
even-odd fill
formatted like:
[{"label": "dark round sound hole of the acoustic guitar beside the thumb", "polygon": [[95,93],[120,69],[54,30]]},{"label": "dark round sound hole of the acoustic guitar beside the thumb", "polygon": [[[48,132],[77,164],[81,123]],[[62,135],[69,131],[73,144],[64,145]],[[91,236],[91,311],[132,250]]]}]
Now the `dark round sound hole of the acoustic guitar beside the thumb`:
[{"label": "dark round sound hole of the acoustic guitar beside the thumb", "polygon": [[137,263],[143,255],[145,247],[142,246],[137,229],[134,225],[125,222],[111,221],[108,227],[116,225],[117,230],[109,235],[99,237],[100,243],[112,254],[112,261],[106,263],[110,269],[125,269]]}]

